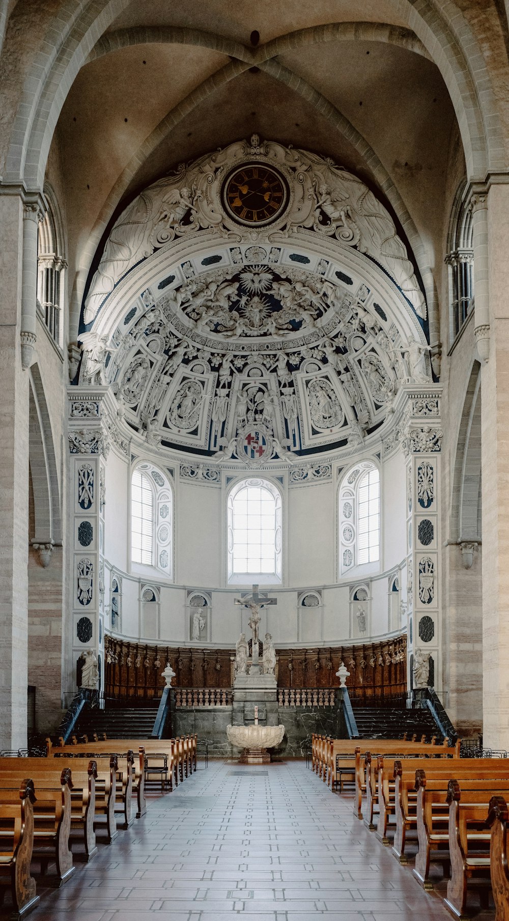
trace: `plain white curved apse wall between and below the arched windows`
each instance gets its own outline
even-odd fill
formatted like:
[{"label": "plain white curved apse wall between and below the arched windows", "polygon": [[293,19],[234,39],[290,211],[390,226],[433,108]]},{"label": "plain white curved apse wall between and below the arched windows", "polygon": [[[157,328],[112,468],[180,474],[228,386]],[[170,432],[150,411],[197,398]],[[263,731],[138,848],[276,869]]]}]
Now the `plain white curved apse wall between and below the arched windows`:
[{"label": "plain white curved apse wall between and below the arched windows", "polygon": [[[240,630],[249,634],[249,614],[235,604],[249,586],[226,587],[226,491],[216,484],[177,482],[175,486],[175,560],[173,584],[157,570],[144,567],[144,575],[127,572],[128,465],[110,452],[107,472],[105,549],[109,567],[122,579],[122,628],[125,636],[139,636],[140,586],[159,587],[158,639],[191,643],[189,592],[202,590],[212,597],[207,643],[231,647]],[[367,639],[388,633],[388,576],[398,570],[406,553],[404,461],[397,454],[382,471],[384,552],[382,573],[337,581],[337,489],[334,479],[283,490],[283,586],[268,587],[277,605],[261,612],[260,636],[269,630],[276,646],[325,645]],[[359,635],[350,602],[353,589],[368,587],[369,617],[366,634]],[[299,595],[318,589],[322,604],[299,606]],[[400,597],[404,597],[401,593]],[[147,638],[143,635],[142,639]],[[203,641],[205,642],[205,641]]]}]

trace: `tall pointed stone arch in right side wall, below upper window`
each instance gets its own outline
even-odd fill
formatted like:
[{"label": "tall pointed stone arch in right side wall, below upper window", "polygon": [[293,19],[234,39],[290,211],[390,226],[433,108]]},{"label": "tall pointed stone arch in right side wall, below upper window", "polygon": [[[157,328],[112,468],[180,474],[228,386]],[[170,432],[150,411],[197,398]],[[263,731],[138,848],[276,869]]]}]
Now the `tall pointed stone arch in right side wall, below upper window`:
[{"label": "tall pointed stone arch in right side wall, below upper window", "polygon": [[480,438],[480,363],[475,361],[457,435],[451,505],[453,542],[480,542]]}]

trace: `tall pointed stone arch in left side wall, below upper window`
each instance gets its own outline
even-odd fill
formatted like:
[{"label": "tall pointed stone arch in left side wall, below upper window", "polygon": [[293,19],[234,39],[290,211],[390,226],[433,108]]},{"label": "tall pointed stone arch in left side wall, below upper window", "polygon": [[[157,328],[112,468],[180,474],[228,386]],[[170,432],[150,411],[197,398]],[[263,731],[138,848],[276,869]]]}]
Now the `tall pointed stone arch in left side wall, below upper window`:
[{"label": "tall pointed stone arch in left side wall, below upper window", "polygon": [[48,405],[37,364],[30,368],[29,468],[34,498],[33,543],[60,544],[60,490]]}]

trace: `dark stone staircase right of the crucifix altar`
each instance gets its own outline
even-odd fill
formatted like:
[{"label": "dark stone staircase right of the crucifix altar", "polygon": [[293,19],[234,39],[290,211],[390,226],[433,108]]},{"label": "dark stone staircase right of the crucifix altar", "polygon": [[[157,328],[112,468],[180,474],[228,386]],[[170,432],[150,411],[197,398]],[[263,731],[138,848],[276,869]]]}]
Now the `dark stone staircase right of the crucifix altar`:
[{"label": "dark stone staircase right of the crucifix altar", "polygon": [[421,741],[422,735],[426,736],[426,741],[431,741],[432,736],[436,736],[437,742],[444,738],[427,708],[385,709],[353,704],[353,716],[361,739],[399,739],[405,732],[408,740],[414,733],[417,741]]}]

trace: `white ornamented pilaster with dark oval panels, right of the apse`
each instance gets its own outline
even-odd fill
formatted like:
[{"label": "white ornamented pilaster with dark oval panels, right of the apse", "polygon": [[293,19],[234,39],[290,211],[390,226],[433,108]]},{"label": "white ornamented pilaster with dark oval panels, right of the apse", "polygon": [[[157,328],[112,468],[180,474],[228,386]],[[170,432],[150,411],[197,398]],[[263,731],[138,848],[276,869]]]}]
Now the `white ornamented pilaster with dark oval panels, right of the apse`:
[{"label": "white ornamented pilaster with dark oval panels, right of the apse", "polygon": [[415,687],[413,664],[421,650],[428,659],[428,685],[442,690],[440,450],[442,388],[405,385],[402,428],[407,458],[408,682]]}]

